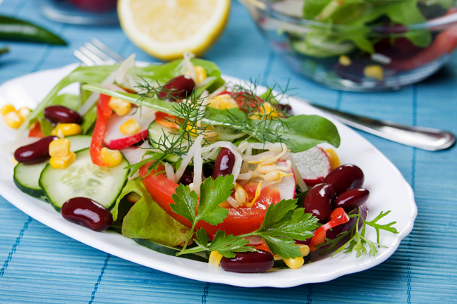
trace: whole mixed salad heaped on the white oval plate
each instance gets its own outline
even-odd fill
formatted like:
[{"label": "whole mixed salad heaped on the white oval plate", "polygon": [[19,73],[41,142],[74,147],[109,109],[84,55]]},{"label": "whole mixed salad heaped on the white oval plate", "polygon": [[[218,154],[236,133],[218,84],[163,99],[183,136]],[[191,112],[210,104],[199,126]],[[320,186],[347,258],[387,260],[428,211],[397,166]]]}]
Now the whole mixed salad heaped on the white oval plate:
[{"label": "whole mixed salad heaped on the white oval plate", "polygon": [[[79,95],[59,94],[77,82]],[[338,147],[338,130],[292,115],[283,95],[226,83],[189,53],[79,67],[34,110],[1,108],[20,137],[8,144],[13,180],[75,224],[226,271],[298,269],[312,251],[375,255],[395,222],[366,220],[362,170],[317,146]]]}]

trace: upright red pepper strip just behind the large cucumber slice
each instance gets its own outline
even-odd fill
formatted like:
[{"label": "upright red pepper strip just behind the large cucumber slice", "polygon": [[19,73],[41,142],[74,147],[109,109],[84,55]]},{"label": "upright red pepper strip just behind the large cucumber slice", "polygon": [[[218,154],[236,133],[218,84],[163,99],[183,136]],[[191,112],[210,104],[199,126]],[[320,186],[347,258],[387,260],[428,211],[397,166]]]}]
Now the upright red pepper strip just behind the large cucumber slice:
[{"label": "upright red pepper strip just behind the large cucumber slice", "polygon": [[109,108],[109,100],[111,96],[100,94],[99,103],[97,104],[97,121],[95,122],[92,141],[90,142],[90,158],[92,163],[99,167],[109,167],[109,163],[102,160],[100,150],[103,146],[103,139],[108,125],[108,118],[111,117],[113,111]]}]

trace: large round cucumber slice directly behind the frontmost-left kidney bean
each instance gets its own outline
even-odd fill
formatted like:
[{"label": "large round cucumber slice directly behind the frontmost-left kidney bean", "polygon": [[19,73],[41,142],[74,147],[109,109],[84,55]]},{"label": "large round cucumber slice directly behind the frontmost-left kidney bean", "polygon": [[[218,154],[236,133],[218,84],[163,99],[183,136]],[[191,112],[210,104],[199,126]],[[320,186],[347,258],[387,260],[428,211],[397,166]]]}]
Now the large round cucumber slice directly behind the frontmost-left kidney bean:
[{"label": "large round cucumber slice directly behind the frontmost-left kidney bean", "polygon": [[128,161],[116,167],[98,167],[92,163],[89,149],[76,152],[76,160],[66,169],[46,165],[39,177],[39,185],[49,202],[60,211],[70,198],[83,196],[111,208],[126,184]]}]

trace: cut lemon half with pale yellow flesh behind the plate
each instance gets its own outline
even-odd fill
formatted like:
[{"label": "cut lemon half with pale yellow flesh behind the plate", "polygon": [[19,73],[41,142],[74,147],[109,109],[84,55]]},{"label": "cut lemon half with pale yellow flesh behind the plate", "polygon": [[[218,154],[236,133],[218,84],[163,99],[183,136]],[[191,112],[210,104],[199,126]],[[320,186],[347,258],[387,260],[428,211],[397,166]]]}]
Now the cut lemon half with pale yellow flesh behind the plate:
[{"label": "cut lemon half with pale yellow flesh behind the plate", "polygon": [[230,0],[119,0],[121,27],[150,55],[171,61],[185,51],[200,56],[229,18]]}]

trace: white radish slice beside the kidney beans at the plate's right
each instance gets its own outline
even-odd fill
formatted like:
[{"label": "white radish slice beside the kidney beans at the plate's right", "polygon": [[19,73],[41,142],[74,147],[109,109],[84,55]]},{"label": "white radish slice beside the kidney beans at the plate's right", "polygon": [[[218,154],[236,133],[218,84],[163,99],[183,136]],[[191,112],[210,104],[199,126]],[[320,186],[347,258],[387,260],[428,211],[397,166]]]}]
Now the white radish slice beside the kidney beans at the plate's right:
[{"label": "white radish slice beside the kidney beans at the plate's right", "polygon": [[322,148],[313,147],[300,153],[291,153],[291,156],[309,187],[324,182],[331,171],[329,156]]}]

